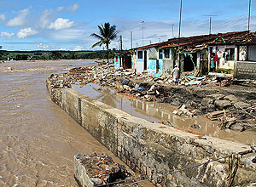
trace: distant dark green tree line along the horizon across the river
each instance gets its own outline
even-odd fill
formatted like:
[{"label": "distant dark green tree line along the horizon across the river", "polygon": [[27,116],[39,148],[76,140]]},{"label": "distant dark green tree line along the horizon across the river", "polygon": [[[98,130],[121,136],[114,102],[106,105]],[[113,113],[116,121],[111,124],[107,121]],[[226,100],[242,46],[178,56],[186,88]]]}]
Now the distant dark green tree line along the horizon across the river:
[{"label": "distant dark green tree line along the horizon across the river", "polygon": [[[119,53],[115,48],[109,50],[109,58]],[[0,50],[0,59],[34,60],[34,59],[107,59],[108,53],[101,51],[4,51]]]}]

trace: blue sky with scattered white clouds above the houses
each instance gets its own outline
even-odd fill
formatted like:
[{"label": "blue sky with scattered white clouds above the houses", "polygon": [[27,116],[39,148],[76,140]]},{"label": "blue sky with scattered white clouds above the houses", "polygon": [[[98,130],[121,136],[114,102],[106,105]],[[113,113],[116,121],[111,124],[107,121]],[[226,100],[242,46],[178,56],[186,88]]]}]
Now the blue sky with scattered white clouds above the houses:
[{"label": "blue sky with scattered white clouds above the houses", "polygon": [[[183,0],[181,36],[247,30],[249,0]],[[256,31],[256,0],[250,30]],[[180,0],[1,0],[3,50],[98,50],[90,34],[105,22],[116,26],[123,48],[178,36]],[[173,28],[173,32],[172,32]],[[110,48],[120,48],[118,38]],[[106,49],[106,48],[105,48]]]}]

